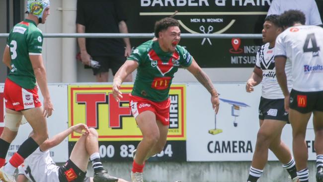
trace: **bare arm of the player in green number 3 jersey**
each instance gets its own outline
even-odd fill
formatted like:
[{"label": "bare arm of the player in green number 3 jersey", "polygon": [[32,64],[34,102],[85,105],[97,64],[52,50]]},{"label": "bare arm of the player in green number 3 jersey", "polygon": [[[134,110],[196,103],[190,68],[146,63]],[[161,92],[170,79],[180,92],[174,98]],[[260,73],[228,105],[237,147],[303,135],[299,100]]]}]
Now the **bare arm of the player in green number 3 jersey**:
[{"label": "bare arm of the player in green number 3 jersey", "polygon": [[39,85],[39,89],[44,97],[44,117],[52,115],[54,107],[47,87],[46,70],[41,55],[29,55],[29,59],[34,70],[34,74]]}]

